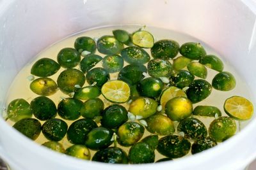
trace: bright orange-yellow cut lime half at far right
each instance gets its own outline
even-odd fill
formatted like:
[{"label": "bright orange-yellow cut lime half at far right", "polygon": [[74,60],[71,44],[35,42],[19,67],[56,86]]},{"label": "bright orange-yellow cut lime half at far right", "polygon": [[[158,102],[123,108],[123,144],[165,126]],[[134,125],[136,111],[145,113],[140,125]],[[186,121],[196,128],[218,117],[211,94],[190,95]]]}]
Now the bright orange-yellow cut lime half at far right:
[{"label": "bright orange-yellow cut lime half at far right", "polygon": [[224,103],[228,116],[237,120],[248,120],[253,115],[253,104],[241,96],[232,96]]}]

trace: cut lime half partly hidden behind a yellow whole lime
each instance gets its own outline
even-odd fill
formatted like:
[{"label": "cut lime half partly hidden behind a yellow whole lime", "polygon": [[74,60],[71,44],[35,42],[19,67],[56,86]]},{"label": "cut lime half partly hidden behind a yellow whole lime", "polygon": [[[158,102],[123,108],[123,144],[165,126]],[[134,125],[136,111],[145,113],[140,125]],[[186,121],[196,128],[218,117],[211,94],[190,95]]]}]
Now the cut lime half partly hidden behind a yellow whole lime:
[{"label": "cut lime half partly hidden behind a yellow whole lime", "polygon": [[161,106],[164,108],[165,104],[168,101],[170,101],[170,99],[178,96],[187,97],[186,93],[183,90],[174,86],[168,87],[168,89],[165,89],[161,94],[161,97],[160,97]]}]

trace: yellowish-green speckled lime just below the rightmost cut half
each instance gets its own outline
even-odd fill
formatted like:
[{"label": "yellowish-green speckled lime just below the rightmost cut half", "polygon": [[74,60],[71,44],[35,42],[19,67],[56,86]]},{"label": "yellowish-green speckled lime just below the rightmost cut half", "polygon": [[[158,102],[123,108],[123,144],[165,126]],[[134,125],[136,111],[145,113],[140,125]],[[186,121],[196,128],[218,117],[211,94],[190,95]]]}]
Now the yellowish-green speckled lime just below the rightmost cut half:
[{"label": "yellowish-green speckled lime just below the rightmost cut half", "polygon": [[219,117],[213,120],[209,127],[209,136],[217,142],[222,142],[236,134],[236,121],[230,117]]}]

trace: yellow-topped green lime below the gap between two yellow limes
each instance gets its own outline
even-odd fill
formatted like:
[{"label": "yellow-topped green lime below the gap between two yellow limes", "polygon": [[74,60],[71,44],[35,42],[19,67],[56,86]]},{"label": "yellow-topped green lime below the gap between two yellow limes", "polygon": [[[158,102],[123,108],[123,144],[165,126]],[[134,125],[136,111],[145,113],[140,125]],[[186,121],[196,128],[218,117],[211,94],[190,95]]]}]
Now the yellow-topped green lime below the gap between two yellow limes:
[{"label": "yellow-topped green lime below the gap between two yellow limes", "polygon": [[157,135],[170,135],[175,132],[174,125],[172,120],[170,118],[161,115],[156,114],[152,115],[151,117],[148,117],[146,119],[147,122],[147,130],[148,132],[152,134]]}]

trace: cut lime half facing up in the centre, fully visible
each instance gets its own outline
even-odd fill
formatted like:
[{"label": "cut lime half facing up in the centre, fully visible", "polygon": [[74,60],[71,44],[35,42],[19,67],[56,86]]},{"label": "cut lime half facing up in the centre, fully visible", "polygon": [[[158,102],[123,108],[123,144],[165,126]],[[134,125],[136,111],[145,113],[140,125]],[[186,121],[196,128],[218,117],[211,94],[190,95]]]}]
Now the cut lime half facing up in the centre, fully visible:
[{"label": "cut lime half facing up in the centre, fully visible", "polygon": [[104,83],[101,89],[102,95],[113,103],[125,103],[130,98],[130,87],[120,80],[111,80]]}]

